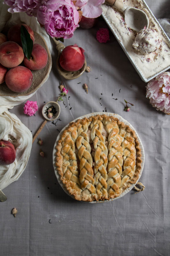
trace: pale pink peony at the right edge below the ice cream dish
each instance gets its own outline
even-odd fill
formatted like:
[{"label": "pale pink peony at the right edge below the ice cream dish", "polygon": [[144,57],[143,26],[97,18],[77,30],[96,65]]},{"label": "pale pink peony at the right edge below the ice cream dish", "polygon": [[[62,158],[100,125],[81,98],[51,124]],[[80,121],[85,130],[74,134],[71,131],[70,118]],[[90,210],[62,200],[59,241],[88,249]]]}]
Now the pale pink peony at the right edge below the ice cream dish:
[{"label": "pale pink peony at the right edge below the ice cream dish", "polygon": [[149,81],[146,98],[150,100],[152,107],[170,114],[170,72],[164,72]]}]

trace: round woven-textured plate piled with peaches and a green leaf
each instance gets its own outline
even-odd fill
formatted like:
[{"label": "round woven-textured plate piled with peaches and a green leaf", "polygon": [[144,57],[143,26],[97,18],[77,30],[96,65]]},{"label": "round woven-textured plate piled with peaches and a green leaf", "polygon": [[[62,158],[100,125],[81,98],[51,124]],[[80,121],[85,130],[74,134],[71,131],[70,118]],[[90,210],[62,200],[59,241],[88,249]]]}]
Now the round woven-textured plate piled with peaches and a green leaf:
[{"label": "round woven-textured plate piled with peaches and a green leaf", "polygon": [[0,33],[0,96],[26,96],[46,81],[51,54],[39,34],[26,24]]}]

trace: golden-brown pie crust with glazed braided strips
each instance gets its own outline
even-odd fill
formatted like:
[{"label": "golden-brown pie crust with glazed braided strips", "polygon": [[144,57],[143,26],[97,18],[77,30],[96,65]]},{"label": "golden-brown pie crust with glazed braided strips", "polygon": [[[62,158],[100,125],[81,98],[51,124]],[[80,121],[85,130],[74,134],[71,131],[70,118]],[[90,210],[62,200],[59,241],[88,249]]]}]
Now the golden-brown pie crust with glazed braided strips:
[{"label": "golden-brown pie crust with glazed braided strips", "polygon": [[113,116],[97,115],[70,123],[56,150],[60,180],[76,200],[120,196],[137,182],[141,170],[135,132]]}]

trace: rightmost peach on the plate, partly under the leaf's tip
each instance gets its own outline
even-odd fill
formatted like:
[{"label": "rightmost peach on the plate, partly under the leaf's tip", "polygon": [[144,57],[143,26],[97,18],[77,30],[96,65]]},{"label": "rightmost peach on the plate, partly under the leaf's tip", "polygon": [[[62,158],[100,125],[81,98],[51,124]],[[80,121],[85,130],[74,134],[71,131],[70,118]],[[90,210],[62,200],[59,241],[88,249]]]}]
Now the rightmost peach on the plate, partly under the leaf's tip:
[{"label": "rightmost peach on the plate, partly under the leaf's tip", "polygon": [[40,44],[33,44],[31,58],[24,57],[24,65],[31,70],[39,70],[47,65],[48,53]]}]

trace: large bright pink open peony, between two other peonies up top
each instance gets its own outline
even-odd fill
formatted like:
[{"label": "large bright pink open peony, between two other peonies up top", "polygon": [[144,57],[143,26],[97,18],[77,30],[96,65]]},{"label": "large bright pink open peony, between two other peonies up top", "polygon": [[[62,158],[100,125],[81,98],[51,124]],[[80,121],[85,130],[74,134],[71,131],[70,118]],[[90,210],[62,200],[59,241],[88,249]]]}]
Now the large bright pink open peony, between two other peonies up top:
[{"label": "large bright pink open peony, between two other peonies up top", "polygon": [[37,12],[37,20],[51,37],[70,38],[79,26],[79,14],[70,0],[48,0]]}]

